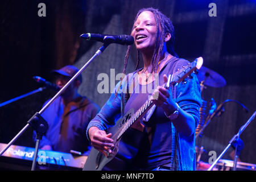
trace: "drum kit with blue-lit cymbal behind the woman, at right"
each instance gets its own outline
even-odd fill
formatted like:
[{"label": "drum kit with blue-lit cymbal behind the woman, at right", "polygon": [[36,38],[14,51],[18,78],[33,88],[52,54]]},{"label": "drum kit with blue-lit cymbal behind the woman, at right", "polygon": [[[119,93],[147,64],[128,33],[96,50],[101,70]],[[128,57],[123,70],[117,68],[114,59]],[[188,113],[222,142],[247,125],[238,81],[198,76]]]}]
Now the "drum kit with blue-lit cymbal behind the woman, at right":
[{"label": "drum kit with blue-lit cymbal behind the woman, at right", "polygon": [[[199,146],[196,146],[196,170],[197,171],[206,171],[211,167],[209,163],[205,163],[201,161],[201,155],[204,154],[205,150],[204,147],[201,146],[201,138],[203,134],[203,130],[205,127],[209,124],[210,115],[215,114],[214,111],[216,111],[216,103],[211,98],[210,102],[210,109],[209,109],[209,114],[206,114],[207,111],[207,101],[204,100],[203,98],[203,92],[205,89],[207,89],[207,86],[213,87],[213,88],[221,88],[226,85],[226,80],[224,77],[219,75],[217,72],[206,68],[206,67],[201,67],[197,73],[197,78],[200,82],[200,87],[201,87],[201,96],[202,96],[202,105],[200,107],[200,121],[199,125],[197,125],[196,128],[196,139],[199,139]],[[238,102],[238,101],[237,101]],[[242,105],[241,103],[239,103]],[[242,105],[243,106],[243,105]],[[246,108],[246,107],[244,107]],[[219,112],[221,113],[221,111]],[[233,167],[233,160],[225,160],[225,159],[220,159],[212,169],[213,171],[229,171],[232,170]],[[256,170],[256,164],[250,164],[250,163],[243,163],[243,162],[237,162],[237,170]]]}]

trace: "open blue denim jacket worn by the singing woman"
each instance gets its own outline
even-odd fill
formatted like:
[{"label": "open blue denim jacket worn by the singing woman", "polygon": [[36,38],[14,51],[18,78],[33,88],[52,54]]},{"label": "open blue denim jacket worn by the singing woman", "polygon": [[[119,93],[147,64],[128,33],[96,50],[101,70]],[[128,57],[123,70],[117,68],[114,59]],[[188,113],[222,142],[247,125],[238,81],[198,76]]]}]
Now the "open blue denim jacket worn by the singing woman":
[{"label": "open blue denim jacket worn by the singing woman", "polygon": [[[171,63],[170,63],[171,62]],[[175,64],[174,64],[175,62]],[[169,64],[170,63],[170,64]],[[184,59],[171,59],[167,64],[169,64],[169,70],[171,73],[175,72],[177,68],[181,68],[183,65],[188,63]],[[135,73],[135,72],[134,72]],[[134,73],[127,75],[127,80],[121,82],[115,86],[112,95],[106,104],[102,107],[101,111],[96,115],[92,121],[90,121],[86,135],[88,136],[88,130],[92,126],[96,126],[101,130],[106,130],[109,127],[115,125],[115,122],[124,115],[125,104],[129,99],[129,94],[126,91],[129,89],[129,84],[133,80]],[[199,123],[199,109],[201,106],[201,96],[200,96],[200,84],[197,80],[197,76],[192,73],[192,78],[185,78],[184,81],[180,82],[174,86],[172,90],[172,98],[180,108],[187,111],[195,119],[195,129]],[[115,96],[117,92],[117,96]],[[151,114],[153,112],[151,111]],[[195,170],[196,158],[195,158],[195,132],[186,137],[176,132],[174,125],[172,125],[172,152],[173,159],[172,163],[176,162],[176,167],[174,170]]]}]

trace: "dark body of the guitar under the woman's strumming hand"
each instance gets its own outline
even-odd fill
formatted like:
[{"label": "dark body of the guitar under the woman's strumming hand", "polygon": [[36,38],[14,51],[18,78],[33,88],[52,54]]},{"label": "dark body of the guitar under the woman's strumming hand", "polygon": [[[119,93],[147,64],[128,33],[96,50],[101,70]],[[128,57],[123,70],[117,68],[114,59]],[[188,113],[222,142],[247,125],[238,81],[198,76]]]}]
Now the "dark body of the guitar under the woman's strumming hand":
[{"label": "dark body of the guitar under the woman's strumming hand", "polygon": [[[111,160],[114,159],[115,155],[118,152],[118,145],[121,138],[118,138],[118,130],[122,128],[122,126],[133,116],[134,110],[130,109],[125,116],[118,119],[115,123],[115,126],[110,127],[107,130],[107,133],[112,133],[112,139],[114,140],[114,148],[112,152],[106,157],[96,148],[92,147],[88,158],[86,159],[83,171],[101,171]],[[108,153],[108,152],[107,152]],[[107,167],[108,168],[108,167]],[[111,168],[111,167],[110,167]]]}]

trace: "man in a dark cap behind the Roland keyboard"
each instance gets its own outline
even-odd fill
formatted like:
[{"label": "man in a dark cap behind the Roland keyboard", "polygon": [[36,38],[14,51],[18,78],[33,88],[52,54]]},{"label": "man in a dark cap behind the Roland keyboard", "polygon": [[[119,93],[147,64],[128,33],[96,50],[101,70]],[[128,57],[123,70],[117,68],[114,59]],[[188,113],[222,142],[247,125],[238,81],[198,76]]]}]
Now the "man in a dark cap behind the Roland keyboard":
[{"label": "man in a dark cap behind the Roland keyboard", "polygon": [[[63,88],[78,71],[76,67],[67,65],[59,70],[53,70],[52,73],[55,75],[56,85]],[[42,117],[49,125],[46,135],[40,141],[39,147],[42,150],[75,150],[81,153],[89,150],[90,143],[85,135],[86,127],[100,111],[100,107],[87,97],[80,96],[78,89],[81,82],[82,76],[79,75],[42,113]]]}]

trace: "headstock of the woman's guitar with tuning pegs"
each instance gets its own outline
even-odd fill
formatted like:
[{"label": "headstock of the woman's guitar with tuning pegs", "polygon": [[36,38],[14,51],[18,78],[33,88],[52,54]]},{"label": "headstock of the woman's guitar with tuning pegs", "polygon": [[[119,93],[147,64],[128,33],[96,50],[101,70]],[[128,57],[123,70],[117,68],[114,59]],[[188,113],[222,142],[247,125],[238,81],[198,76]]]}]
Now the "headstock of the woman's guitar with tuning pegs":
[{"label": "headstock of the woman's guitar with tuning pegs", "polygon": [[171,84],[180,83],[185,77],[191,75],[196,69],[200,69],[203,65],[203,57],[197,57],[192,63],[184,65],[181,69],[178,69],[173,75],[168,76],[166,87],[169,88]]}]

